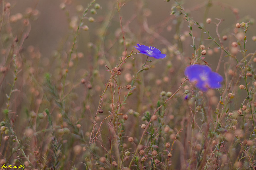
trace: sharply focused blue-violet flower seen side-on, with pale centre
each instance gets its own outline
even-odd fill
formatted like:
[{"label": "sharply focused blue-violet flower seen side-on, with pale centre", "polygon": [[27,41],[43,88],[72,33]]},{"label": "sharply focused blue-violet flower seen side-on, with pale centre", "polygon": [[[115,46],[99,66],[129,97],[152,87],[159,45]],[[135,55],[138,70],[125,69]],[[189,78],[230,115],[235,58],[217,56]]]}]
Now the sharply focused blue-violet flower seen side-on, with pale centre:
[{"label": "sharply focused blue-violet flower seen side-on, with pale centre", "polygon": [[165,58],[166,54],[162,54],[160,50],[158,50],[155,47],[148,47],[145,45],[137,44],[137,47],[134,46],[137,50],[140,51],[140,54],[145,54],[148,57],[154,57],[154,58]]}]

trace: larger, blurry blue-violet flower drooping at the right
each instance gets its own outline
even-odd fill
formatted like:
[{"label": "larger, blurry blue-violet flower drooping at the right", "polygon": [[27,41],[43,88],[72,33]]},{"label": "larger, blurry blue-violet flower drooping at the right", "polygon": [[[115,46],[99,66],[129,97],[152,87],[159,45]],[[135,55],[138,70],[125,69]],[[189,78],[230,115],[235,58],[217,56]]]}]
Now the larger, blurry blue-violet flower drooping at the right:
[{"label": "larger, blurry blue-violet flower drooping at the right", "polygon": [[223,77],[213,72],[207,65],[187,66],[184,74],[188,76],[190,82],[196,82],[195,85],[202,91],[207,91],[208,88],[220,88],[220,83],[223,81]]}]

